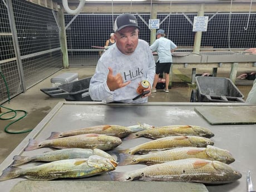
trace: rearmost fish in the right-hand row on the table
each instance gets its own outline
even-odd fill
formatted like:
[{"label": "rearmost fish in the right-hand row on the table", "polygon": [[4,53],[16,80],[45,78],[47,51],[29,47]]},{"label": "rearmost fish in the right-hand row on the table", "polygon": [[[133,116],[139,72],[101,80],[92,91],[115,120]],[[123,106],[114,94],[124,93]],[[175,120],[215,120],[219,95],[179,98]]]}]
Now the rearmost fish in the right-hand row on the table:
[{"label": "rearmost fish in the right-hand row on the table", "polygon": [[152,139],[159,139],[162,137],[175,135],[201,136],[207,138],[214,136],[213,132],[211,132],[209,129],[205,127],[194,125],[170,125],[135,132],[127,136],[124,140],[135,139],[138,137],[150,137]]}]

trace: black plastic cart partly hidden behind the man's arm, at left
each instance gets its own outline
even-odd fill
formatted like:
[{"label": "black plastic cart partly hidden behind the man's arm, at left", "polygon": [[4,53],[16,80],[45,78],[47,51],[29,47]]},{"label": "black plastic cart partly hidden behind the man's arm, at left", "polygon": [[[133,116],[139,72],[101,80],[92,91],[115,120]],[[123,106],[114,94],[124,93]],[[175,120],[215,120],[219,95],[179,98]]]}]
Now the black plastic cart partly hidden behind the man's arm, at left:
[{"label": "black plastic cart partly hidden behind the man's arm, at left", "polygon": [[82,78],[53,88],[41,88],[46,95],[63,98],[66,101],[92,101],[89,95],[89,85],[91,77]]}]

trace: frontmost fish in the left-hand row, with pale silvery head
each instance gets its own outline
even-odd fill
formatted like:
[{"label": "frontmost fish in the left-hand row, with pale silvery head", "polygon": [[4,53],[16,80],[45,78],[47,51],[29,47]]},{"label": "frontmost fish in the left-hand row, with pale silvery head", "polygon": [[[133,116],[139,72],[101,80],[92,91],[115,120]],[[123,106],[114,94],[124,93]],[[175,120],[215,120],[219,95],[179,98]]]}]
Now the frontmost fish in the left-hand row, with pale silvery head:
[{"label": "frontmost fish in the left-hand row, with pale silvery head", "polygon": [[25,176],[31,180],[60,178],[87,178],[115,170],[117,163],[105,157],[92,155],[88,159],[66,159],[29,168],[9,166],[3,170],[0,181]]}]

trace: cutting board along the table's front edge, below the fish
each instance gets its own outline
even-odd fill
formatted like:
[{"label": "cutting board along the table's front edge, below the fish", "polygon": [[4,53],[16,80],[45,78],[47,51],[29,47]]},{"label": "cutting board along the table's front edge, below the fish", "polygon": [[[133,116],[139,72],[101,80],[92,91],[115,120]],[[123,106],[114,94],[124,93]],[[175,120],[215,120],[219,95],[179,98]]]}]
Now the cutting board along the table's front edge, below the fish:
[{"label": "cutting board along the table's front edge, below the fish", "polygon": [[76,180],[56,180],[56,181],[20,181],[11,192],[53,192],[53,191],[86,191],[86,192],[208,192],[204,184],[183,183],[183,182],[120,182],[120,181],[76,181]]}]

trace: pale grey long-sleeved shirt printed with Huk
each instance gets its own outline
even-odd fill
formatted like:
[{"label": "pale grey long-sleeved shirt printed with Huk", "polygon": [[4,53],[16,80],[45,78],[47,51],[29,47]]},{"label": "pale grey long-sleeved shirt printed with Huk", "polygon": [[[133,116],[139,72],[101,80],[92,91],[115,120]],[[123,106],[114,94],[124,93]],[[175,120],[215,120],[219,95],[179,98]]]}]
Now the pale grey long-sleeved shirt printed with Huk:
[{"label": "pale grey long-sleeved shirt printed with Huk", "polygon": [[[131,83],[110,91],[106,83],[108,67],[112,68],[113,75],[121,73],[124,82],[131,81]],[[90,81],[89,93],[94,101],[135,104],[147,102],[147,97],[135,101],[132,99],[138,95],[136,89],[139,83],[147,80],[152,86],[154,76],[155,60],[146,41],[139,40],[136,50],[131,55],[123,54],[114,44],[100,57],[95,74]]]}]

